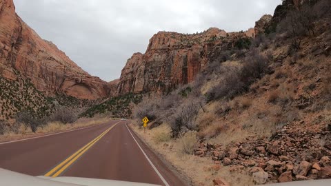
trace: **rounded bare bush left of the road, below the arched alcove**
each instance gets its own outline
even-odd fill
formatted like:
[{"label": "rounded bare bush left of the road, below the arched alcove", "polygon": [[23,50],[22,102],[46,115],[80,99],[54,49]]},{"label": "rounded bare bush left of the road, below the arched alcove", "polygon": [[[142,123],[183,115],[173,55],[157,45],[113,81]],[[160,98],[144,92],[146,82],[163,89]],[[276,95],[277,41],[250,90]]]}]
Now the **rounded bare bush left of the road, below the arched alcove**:
[{"label": "rounded bare bush left of the road, below the arched alcove", "polygon": [[52,121],[59,121],[61,123],[74,123],[77,121],[77,114],[68,107],[59,107],[51,116]]}]

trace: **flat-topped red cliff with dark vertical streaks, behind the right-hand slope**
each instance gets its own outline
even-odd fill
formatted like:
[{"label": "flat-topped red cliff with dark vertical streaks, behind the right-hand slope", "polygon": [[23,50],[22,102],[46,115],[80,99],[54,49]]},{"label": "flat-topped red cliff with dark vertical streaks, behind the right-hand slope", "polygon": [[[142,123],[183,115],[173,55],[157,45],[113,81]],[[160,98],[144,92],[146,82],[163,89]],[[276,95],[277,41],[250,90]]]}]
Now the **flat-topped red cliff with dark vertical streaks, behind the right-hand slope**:
[{"label": "flat-topped red cliff with dark vertical streaks, behind the right-hand slope", "polygon": [[154,34],[145,54],[136,53],[128,59],[117,94],[170,92],[192,82],[208,63],[219,60],[221,52],[234,48],[239,39],[253,35],[252,30],[227,33],[218,28],[197,34]]}]

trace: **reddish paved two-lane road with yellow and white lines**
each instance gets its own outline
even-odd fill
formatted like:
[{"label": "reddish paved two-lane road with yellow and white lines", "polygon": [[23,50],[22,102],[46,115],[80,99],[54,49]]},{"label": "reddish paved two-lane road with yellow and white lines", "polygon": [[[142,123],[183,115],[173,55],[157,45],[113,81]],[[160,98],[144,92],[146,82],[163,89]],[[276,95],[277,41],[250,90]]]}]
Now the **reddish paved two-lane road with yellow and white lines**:
[{"label": "reddish paved two-lane road with yellow and white lines", "polygon": [[186,185],[141,142],[126,121],[0,143],[0,167],[31,176]]}]

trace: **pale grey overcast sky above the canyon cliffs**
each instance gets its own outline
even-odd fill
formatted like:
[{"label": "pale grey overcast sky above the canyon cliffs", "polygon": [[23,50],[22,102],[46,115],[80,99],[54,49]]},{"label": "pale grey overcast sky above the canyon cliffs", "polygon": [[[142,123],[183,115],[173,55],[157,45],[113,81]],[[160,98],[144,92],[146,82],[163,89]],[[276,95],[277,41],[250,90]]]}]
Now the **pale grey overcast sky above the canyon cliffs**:
[{"label": "pale grey overcast sky above the canyon cliffs", "polygon": [[159,31],[227,32],[254,27],[281,0],[14,0],[19,16],[81,68],[105,81],[119,78],[134,52]]}]

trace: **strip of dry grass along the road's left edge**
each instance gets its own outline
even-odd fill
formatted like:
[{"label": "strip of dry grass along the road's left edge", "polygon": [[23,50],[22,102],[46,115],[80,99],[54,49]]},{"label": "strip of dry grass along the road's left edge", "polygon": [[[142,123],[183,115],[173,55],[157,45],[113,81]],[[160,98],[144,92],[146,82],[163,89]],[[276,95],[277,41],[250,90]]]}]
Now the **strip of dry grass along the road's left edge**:
[{"label": "strip of dry grass along the road's left edge", "polygon": [[63,130],[73,130],[81,127],[88,127],[91,125],[99,125],[106,123],[113,118],[80,118],[78,121],[72,124],[63,124],[59,122],[47,123],[46,125],[37,127],[36,133],[32,132],[31,128],[22,123],[16,123],[12,127],[6,127],[3,135],[0,135],[0,141],[11,141],[20,138],[26,138],[31,136],[40,136],[49,132],[60,132]]}]

